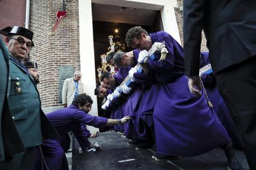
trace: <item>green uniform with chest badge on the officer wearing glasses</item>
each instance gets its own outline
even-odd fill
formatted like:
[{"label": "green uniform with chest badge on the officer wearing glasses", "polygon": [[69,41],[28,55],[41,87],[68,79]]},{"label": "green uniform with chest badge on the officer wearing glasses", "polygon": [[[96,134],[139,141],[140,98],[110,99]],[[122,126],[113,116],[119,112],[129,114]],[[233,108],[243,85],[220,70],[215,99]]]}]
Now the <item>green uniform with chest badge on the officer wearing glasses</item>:
[{"label": "green uniform with chest badge on the officer wearing glasses", "polygon": [[[30,158],[33,158],[33,147],[42,144],[43,139],[58,138],[59,135],[41,110],[40,96],[33,78],[14,58],[10,56],[9,59],[11,78],[9,108],[22,143],[27,148],[27,152],[12,155],[11,160],[0,163],[0,169],[11,170],[26,165],[28,162],[24,162],[24,160],[29,161]],[[33,160],[30,160],[30,163],[33,163]]]}]

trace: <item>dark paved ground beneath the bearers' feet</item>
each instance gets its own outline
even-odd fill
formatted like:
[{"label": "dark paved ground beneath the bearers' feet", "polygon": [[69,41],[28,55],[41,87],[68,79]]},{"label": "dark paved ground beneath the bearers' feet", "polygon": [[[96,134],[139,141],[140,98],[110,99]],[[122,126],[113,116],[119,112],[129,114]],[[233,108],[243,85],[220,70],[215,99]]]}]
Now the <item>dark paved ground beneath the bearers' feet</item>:
[{"label": "dark paved ground beneath the bearers' feet", "polygon": [[[221,149],[191,158],[181,158],[172,161],[155,161],[151,155],[155,150],[135,150],[127,145],[129,140],[117,132],[104,132],[99,137],[90,139],[94,144],[98,142],[102,150],[99,152],[85,152],[79,150],[74,140],[72,152],[72,170],[82,169],[227,169],[226,157]],[[249,169],[241,150],[235,150],[243,169]]]}]

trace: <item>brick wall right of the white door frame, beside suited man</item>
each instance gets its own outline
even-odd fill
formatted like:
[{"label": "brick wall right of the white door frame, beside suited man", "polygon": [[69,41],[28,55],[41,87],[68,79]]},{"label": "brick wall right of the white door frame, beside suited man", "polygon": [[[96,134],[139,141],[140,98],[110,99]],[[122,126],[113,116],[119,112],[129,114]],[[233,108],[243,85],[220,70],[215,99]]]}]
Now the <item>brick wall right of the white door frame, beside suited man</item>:
[{"label": "brick wall right of the white door frame, beside suited man", "polygon": [[[177,20],[177,25],[179,28],[179,36],[181,37],[181,46],[183,46],[183,33],[182,33],[182,27],[183,27],[183,0],[177,0],[178,7],[175,8],[175,15]],[[208,51],[207,49],[207,41],[205,39],[205,34],[202,32],[202,43],[201,43],[201,51]]]}]

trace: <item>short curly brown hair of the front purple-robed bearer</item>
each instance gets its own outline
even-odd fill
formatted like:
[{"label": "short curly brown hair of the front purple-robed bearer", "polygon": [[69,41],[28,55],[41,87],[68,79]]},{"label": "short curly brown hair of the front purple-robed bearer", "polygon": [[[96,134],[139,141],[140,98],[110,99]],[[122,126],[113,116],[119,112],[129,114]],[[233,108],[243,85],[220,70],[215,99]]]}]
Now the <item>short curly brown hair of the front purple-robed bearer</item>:
[{"label": "short curly brown hair of the front purple-robed bearer", "polygon": [[140,39],[142,38],[142,33],[148,35],[148,32],[144,30],[141,26],[134,26],[130,28],[126,33],[126,44],[128,47],[132,45],[132,41],[134,38]]}]

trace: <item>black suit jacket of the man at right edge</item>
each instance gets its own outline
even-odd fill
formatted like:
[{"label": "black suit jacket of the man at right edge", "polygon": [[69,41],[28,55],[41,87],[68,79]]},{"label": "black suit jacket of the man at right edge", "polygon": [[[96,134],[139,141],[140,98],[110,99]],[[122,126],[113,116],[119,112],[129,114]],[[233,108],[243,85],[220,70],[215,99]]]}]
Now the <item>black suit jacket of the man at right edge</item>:
[{"label": "black suit jacket of the man at right edge", "polygon": [[213,73],[256,55],[255,0],[184,0],[186,76],[197,76],[202,30]]}]

